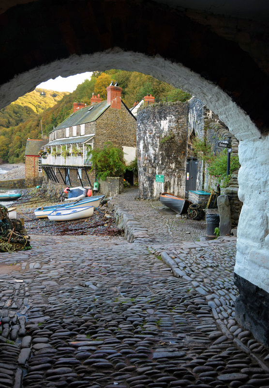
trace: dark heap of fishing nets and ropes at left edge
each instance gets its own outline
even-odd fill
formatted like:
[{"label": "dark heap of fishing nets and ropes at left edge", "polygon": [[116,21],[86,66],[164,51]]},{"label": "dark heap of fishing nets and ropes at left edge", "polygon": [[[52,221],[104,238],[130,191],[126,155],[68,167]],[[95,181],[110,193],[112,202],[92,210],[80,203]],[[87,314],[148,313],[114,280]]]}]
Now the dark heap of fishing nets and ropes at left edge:
[{"label": "dark heap of fishing nets and ropes at left edge", "polygon": [[0,252],[31,249],[30,236],[19,220],[8,218],[7,208],[0,205]]}]

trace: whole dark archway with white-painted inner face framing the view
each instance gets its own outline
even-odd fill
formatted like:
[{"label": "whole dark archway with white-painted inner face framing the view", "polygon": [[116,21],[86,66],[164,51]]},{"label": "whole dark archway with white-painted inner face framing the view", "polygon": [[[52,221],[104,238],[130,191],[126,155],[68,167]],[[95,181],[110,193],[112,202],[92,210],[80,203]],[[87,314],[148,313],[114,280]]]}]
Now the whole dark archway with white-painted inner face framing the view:
[{"label": "whole dark archway with white-painted inner face framing the view", "polygon": [[238,317],[269,344],[268,316],[258,323],[269,307],[266,26],[154,1],[22,2],[0,15],[1,107],[58,75],[136,70],[193,93],[239,139]]}]

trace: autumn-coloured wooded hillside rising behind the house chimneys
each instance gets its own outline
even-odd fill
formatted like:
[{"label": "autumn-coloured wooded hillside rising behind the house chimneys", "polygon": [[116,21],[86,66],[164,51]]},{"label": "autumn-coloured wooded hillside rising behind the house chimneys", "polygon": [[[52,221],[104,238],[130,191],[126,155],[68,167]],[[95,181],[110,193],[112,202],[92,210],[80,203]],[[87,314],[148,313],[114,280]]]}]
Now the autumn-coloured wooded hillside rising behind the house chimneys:
[{"label": "autumn-coloured wooded hillside rising behind the house chimneys", "polygon": [[73,113],[73,102],[90,105],[92,93],[106,99],[106,87],[111,81],[118,81],[122,100],[129,108],[147,94],[170,101],[190,98],[189,94],[151,76],[123,70],[96,71],[70,94],[44,90],[42,96],[42,90],[35,89],[0,111],[0,159],[23,162],[26,140],[41,139],[41,120],[43,134],[48,134]]}]

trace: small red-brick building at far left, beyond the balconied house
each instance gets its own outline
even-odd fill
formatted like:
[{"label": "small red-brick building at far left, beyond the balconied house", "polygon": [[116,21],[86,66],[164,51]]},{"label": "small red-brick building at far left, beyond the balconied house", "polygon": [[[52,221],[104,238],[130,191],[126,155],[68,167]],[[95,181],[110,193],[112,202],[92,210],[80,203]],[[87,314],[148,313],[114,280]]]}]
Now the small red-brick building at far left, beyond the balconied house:
[{"label": "small red-brick building at far left, beyond the balconied house", "polygon": [[42,176],[42,161],[39,155],[40,149],[45,146],[48,139],[27,139],[25,148],[25,178]]}]

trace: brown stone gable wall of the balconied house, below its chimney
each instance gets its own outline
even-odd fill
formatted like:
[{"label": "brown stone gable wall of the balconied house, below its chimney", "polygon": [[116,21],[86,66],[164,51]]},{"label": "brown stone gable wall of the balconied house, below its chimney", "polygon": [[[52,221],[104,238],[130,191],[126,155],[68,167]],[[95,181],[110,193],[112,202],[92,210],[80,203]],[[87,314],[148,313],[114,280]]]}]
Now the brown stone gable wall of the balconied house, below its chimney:
[{"label": "brown stone gable wall of the balconied house, below its chimney", "polygon": [[136,147],[135,138],[136,120],[123,103],[120,109],[108,108],[96,121],[95,148],[103,148],[106,142],[117,147]]}]

